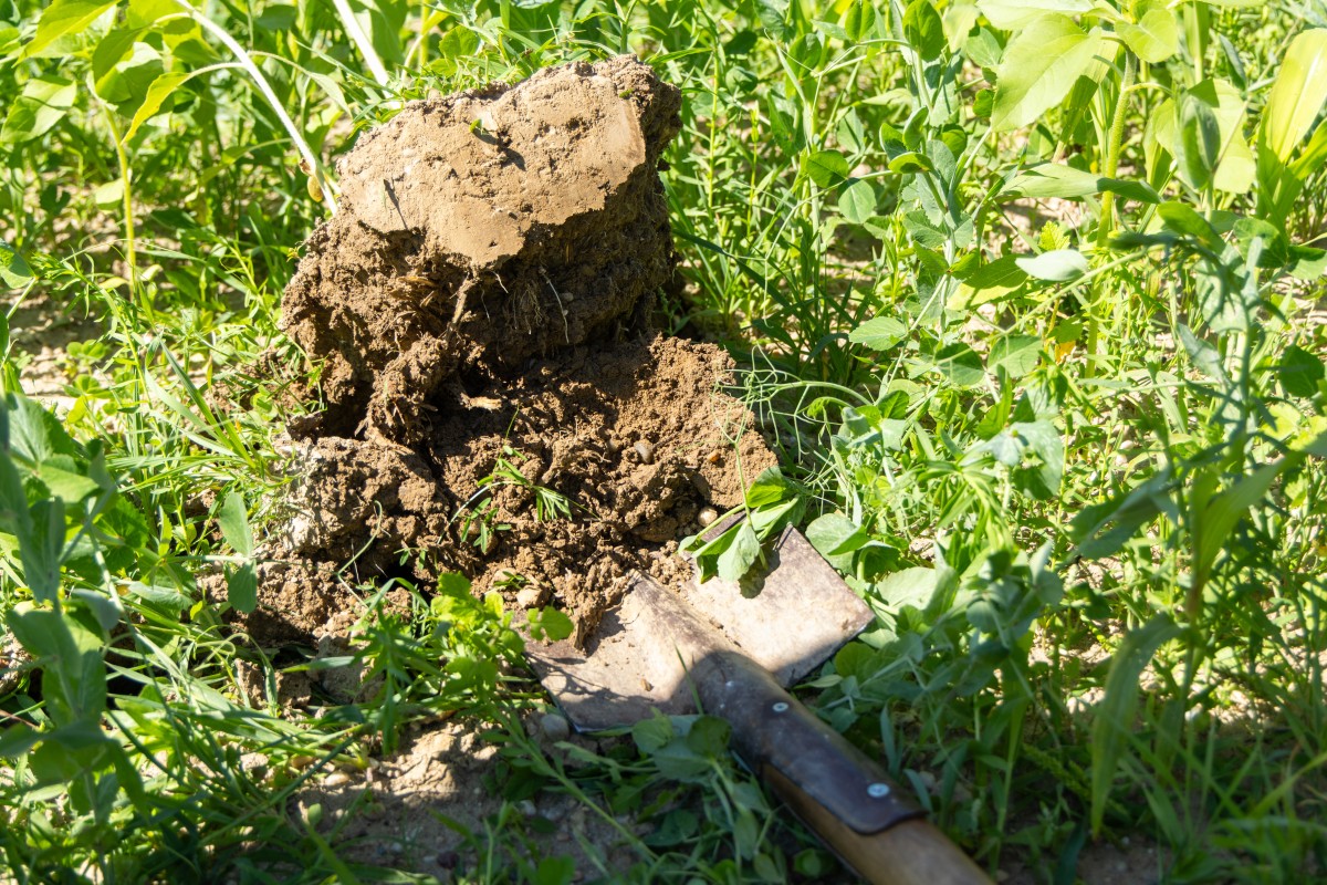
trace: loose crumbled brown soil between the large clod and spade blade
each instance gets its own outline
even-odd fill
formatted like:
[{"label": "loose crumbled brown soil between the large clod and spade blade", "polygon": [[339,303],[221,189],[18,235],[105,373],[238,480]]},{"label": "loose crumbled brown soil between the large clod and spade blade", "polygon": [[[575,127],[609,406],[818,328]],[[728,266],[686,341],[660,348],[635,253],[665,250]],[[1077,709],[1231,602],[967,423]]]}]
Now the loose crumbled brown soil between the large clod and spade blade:
[{"label": "loose crumbled brown soil between the large clod and spade blade", "polygon": [[[633,571],[679,585],[678,539],[774,463],[750,413],[717,389],[727,368],[717,348],[677,338],[581,348],[453,403],[418,450],[305,443],[285,543],[318,565],[264,567],[269,605],[251,633],[324,632],[352,602],[330,563],[350,559],[362,577],[456,571],[512,608],[556,601],[583,632]],[[536,486],[568,512],[541,513]],[[423,556],[402,565],[402,549]]]}]

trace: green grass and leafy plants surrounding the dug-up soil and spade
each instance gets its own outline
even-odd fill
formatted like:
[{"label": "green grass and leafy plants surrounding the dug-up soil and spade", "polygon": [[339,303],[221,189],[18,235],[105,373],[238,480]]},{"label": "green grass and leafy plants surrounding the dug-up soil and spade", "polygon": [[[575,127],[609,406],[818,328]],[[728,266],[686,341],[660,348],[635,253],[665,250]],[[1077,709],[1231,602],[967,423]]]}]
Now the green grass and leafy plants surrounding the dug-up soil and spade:
[{"label": "green grass and leafy plants surrounding the dug-up soil and spade", "polygon": [[[1324,873],[1320,0],[352,5],[349,33],[334,4],[0,8],[0,280],[104,330],[62,422],[5,410],[0,606],[36,658],[0,698],[16,878],[344,881],[284,799],[450,710],[494,723],[512,801],[653,823],[630,878],[832,865],[711,724],[545,756],[510,724],[519,641],[459,582],[409,613],[357,588],[373,698],[277,715],[236,686],[236,659],[292,666],[224,614],[279,517],[283,385],[316,381],[276,326],[328,211],[301,155],[334,190],[402,100],[625,50],[686,98],[665,321],[731,346],[790,512],[880,616],[820,714],[991,870],[1072,882],[1128,836],[1168,882]],[[510,820],[472,837],[475,881],[565,881]]]}]

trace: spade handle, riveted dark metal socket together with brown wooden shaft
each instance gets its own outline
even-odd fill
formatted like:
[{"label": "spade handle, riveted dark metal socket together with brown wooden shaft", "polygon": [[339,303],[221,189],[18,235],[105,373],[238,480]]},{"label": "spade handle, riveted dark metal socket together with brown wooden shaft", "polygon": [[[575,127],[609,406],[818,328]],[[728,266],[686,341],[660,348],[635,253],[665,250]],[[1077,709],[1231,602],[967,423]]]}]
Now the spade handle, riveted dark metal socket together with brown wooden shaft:
[{"label": "spade handle, riveted dark metal socket together with brown wooden shaft", "polygon": [[840,858],[873,885],[990,885],[921,819],[884,768],[736,651],[691,667],[702,707],[733,726],[738,756]]}]

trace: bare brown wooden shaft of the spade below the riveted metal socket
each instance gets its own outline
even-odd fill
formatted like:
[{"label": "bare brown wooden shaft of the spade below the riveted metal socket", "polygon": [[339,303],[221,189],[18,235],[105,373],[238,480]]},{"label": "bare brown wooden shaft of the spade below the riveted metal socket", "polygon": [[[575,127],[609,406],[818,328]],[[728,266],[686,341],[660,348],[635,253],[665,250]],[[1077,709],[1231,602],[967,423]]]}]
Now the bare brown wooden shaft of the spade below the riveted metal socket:
[{"label": "bare brown wooden shaft of the spade below the riveted metal socket", "polygon": [[792,813],[872,885],[990,885],[986,873],[925,820],[905,820],[863,836],[776,768],[762,774]]}]

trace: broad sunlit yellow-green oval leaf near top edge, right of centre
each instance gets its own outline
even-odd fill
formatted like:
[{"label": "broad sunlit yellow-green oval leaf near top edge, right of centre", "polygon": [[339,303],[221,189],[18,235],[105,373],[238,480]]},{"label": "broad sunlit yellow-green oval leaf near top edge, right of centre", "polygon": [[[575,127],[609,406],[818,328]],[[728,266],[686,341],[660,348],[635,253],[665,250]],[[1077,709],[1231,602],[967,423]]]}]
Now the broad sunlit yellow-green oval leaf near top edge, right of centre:
[{"label": "broad sunlit yellow-green oval leaf near top edge, right of centre", "polygon": [[1111,57],[1115,45],[1100,31],[1084,33],[1072,19],[1051,13],[1020,31],[1005,50],[991,109],[997,131],[1036,121],[1064,100],[1075,81]]}]

